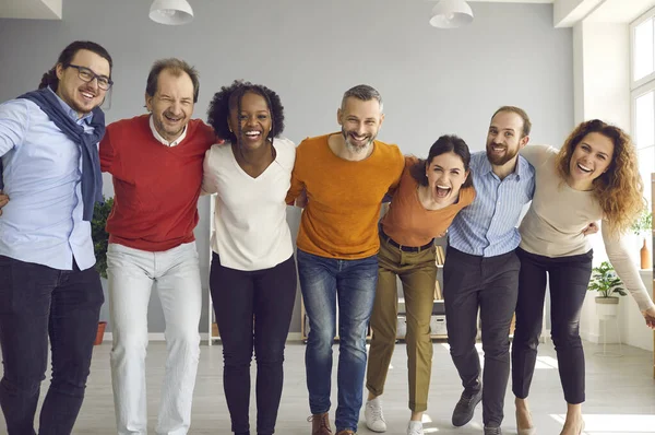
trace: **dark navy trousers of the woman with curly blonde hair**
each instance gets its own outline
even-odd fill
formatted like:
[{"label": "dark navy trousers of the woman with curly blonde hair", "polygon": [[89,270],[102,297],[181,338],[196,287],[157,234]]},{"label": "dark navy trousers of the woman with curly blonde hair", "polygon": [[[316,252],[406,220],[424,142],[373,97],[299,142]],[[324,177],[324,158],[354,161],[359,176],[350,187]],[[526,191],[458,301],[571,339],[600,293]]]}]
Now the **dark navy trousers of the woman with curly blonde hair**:
[{"label": "dark navy trousers of the woman with curly blonde hair", "polygon": [[529,392],[541,334],[546,273],[550,289],[550,336],[557,352],[560,380],[568,403],[584,402],[584,351],[580,311],[592,274],[593,251],[550,258],[516,249],[521,259],[516,327],[512,343],[512,391]]}]

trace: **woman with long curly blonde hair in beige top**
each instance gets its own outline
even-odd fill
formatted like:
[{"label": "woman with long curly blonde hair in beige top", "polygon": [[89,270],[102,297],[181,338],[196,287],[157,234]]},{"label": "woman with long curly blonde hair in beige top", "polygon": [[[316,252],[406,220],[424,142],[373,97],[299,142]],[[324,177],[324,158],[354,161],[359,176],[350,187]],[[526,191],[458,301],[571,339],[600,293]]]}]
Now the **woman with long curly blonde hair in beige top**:
[{"label": "woman with long curly blonde hair in beige top", "polygon": [[592,272],[593,252],[583,230],[603,220],[607,256],[636,301],[645,324],[655,326],[655,306],[628,256],[622,234],[644,207],[643,181],[630,137],[598,119],[582,122],[561,150],[526,146],[536,190],[519,228],[521,259],[516,328],[512,344],[512,390],[520,435],[535,434],[526,398],[541,333],[546,274],[550,289],[551,337],[568,403],[561,435],[584,427],[584,352],[580,311]]}]

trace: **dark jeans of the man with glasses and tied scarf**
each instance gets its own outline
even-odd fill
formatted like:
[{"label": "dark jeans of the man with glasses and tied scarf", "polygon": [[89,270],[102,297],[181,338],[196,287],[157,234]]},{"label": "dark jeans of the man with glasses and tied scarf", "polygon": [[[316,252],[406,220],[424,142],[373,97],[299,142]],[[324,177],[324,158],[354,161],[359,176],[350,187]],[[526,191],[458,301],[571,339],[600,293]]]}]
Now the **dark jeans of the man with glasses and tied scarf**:
[{"label": "dark jeans of the man with glasses and tied scarf", "polygon": [[70,434],[88,377],[103,287],[95,268],[57,270],[0,256],[0,407],[9,435],[33,435],[40,383],[52,379],[39,434]]}]

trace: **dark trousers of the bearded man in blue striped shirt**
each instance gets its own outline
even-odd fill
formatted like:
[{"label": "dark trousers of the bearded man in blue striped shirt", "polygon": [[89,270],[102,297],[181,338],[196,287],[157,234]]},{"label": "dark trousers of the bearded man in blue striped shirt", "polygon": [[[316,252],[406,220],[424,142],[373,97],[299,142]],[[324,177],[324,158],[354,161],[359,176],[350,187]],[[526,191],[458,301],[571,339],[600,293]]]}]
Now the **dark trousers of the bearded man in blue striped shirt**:
[{"label": "dark trousers of the bearded man in blue striped shirt", "polygon": [[[516,307],[519,269],[514,251],[478,257],[448,248],[443,264],[445,326],[453,363],[466,393],[483,388],[483,421],[500,426],[510,377],[510,324]],[[485,372],[475,349],[480,311]]]}]

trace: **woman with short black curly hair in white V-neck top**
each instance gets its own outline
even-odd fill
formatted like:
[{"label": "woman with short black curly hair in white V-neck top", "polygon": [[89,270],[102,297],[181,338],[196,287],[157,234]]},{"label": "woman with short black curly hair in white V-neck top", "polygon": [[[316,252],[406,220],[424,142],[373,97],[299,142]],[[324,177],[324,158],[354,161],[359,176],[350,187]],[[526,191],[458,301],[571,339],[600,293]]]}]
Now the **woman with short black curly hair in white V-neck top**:
[{"label": "woman with short black curly hair in white V-neck top", "polygon": [[207,151],[202,188],[217,193],[210,289],[223,341],[223,383],[235,434],[249,434],[250,362],[257,357],[257,433],[275,430],[284,346],[296,299],[285,197],[295,144],[279,134],[279,96],[235,81],[214,95],[209,122],[226,138]]}]

